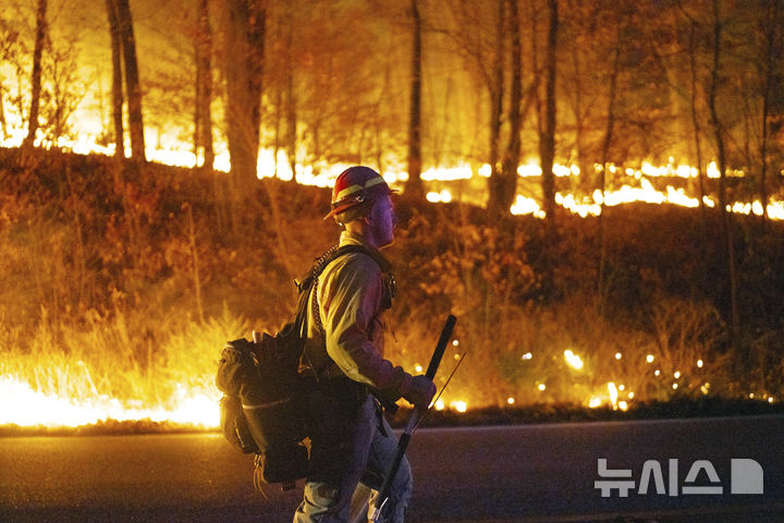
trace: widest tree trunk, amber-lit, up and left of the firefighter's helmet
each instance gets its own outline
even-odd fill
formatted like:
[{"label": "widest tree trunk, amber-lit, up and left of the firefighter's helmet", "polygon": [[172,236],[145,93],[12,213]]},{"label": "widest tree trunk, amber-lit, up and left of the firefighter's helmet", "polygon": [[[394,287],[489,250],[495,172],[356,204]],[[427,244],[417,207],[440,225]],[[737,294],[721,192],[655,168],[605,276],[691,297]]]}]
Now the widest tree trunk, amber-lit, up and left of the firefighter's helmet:
[{"label": "widest tree trunk, amber-lit, up and left of the firefighter's helmet", "polygon": [[228,0],[226,137],[236,198],[249,195],[256,181],[266,15],[260,0]]}]

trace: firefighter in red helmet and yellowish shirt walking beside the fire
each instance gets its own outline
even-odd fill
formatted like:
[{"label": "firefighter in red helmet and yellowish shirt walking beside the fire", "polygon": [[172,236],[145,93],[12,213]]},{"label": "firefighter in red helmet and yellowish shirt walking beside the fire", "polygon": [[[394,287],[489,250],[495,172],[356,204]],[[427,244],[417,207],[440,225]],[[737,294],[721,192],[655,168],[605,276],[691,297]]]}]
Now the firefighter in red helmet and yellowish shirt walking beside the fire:
[{"label": "firefighter in red helmet and yellowish shirt walking beside the fire", "polygon": [[[310,465],[295,523],[345,522],[358,484],[378,490],[394,459],[397,438],[381,403],[403,398],[426,410],[436,386],[383,356],[382,313],[394,278],[379,252],[392,244],[392,191],[375,170],[343,171],[332,191],[333,218],[344,227],[340,246],[360,248],[333,259],[310,291],[303,367],[318,386],[308,396]],[[402,522],[412,494],[407,461],[395,476],[384,516]],[[365,508],[367,510],[367,507]]]}]

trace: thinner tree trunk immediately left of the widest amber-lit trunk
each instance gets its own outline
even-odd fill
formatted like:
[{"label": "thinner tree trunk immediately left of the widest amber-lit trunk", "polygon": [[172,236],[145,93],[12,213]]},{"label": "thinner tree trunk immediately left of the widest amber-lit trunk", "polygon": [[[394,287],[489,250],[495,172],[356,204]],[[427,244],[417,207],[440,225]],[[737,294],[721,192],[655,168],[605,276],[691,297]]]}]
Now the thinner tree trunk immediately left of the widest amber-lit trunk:
[{"label": "thinner tree trunk immediately left of the widest amber-lit trunk", "polygon": [[209,24],[209,0],[198,3],[198,36],[196,42],[196,122],[195,143],[204,149],[204,168],[212,169],[215,149],[212,146],[212,27]]}]

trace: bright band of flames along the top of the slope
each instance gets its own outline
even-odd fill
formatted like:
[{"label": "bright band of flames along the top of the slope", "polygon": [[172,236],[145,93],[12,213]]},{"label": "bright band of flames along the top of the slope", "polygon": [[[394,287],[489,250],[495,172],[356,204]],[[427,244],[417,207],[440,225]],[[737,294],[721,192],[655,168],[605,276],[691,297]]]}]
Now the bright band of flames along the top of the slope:
[{"label": "bright band of flames along the top of the slope", "polygon": [[[9,125],[8,135],[3,141],[0,142],[0,147],[19,147],[24,141],[26,133],[21,124]],[[162,139],[161,136],[150,136],[146,143],[149,144],[166,144],[160,147],[148,146],[146,149],[147,158],[151,161],[160,163],[176,166],[176,167],[195,167],[198,165],[197,156],[191,150],[188,144],[179,142]],[[100,155],[113,155],[114,145],[102,146],[96,141],[95,135],[88,133],[81,135],[78,139],[69,139],[60,137],[54,142],[45,142],[37,139],[36,145],[45,147],[56,147],[72,150],[77,154],[100,154]],[[128,147],[126,146],[126,149]],[[213,167],[218,170],[228,171],[231,168],[229,153],[225,147],[221,144],[217,144],[217,154]],[[297,163],[295,166],[295,172],[292,172],[291,163],[284,150],[278,150],[277,155],[271,149],[260,149],[257,162],[257,178],[272,178],[277,177],[281,180],[294,179],[297,183],[303,185],[315,185],[319,187],[331,186],[334,179],[350,165],[344,163],[319,163],[303,166]],[[596,165],[595,170],[600,172],[602,166]],[[610,173],[617,173],[618,169],[614,165],[608,166]],[[699,175],[697,168],[687,165],[675,163],[674,158],[670,158],[666,166],[654,166],[649,161],[642,161],[639,169],[625,169],[625,174],[629,178],[635,179],[639,183],[639,186],[624,184],[621,188],[611,191],[595,191],[590,197],[578,198],[574,194],[555,194],[555,203],[571,212],[579,215],[580,217],[587,216],[599,216],[601,214],[602,203],[607,206],[613,207],[622,204],[630,204],[636,202],[644,202],[649,204],[672,204],[683,207],[698,207],[699,198],[688,196],[684,188],[675,188],[672,185],[667,185],[666,188],[658,191],[653,187],[653,184],[648,180],[649,178],[679,178],[679,179],[695,179]],[[454,167],[431,167],[421,174],[421,179],[425,182],[429,182],[432,185],[463,182],[463,181],[475,181],[481,178],[489,178],[491,174],[491,168],[485,163],[476,169],[476,175],[474,168],[467,163],[460,163]],[[517,174],[523,179],[541,177],[541,167],[534,159],[528,159],[525,163],[517,168]],[[553,174],[560,178],[566,177],[579,177],[580,169],[577,166],[565,166],[555,163],[553,166]],[[706,174],[710,179],[718,179],[720,177],[719,168],[715,162],[712,161],[708,165]],[[731,170],[727,172],[728,177],[743,178],[745,173],[740,170]],[[405,182],[408,179],[408,174],[401,170],[389,170],[384,172],[384,179],[388,183],[396,185]],[[476,194],[483,193],[483,187],[475,191],[461,191],[461,200],[482,204],[480,197]],[[448,187],[441,187],[439,191],[430,191],[427,194],[427,199],[431,203],[449,203],[455,199],[452,191]],[[705,197],[705,205],[708,207],[715,207],[715,202],[709,197]],[[759,200],[755,202],[734,202],[727,205],[727,210],[735,214],[742,215],[756,215],[762,216],[764,211],[762,203]],[[768,204],[768,217],[772,220],[784,220],[784,200],[772,198]],[[514,204],[510,207],[510,211],[513,215],[531,215],[536,218],[544,218],[546,212],[541,209],[539,202],[531,196],[518,194],[516,195]]]}]

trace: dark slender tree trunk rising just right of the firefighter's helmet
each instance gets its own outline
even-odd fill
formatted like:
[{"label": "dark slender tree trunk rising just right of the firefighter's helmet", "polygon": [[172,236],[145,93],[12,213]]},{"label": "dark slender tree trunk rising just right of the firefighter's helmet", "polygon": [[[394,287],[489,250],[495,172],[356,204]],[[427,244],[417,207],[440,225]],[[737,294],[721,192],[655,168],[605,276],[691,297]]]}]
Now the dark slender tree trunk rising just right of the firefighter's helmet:
[{"label": "dark slender tree trunk rising just right of the firefighter's helmet", "polygon": [[414,41],[412,45],[411,115],[408,118],[408,180],[405,192],[416,198],[425,195],[421,181],[421,14],[419,0],[412,0]]}]

